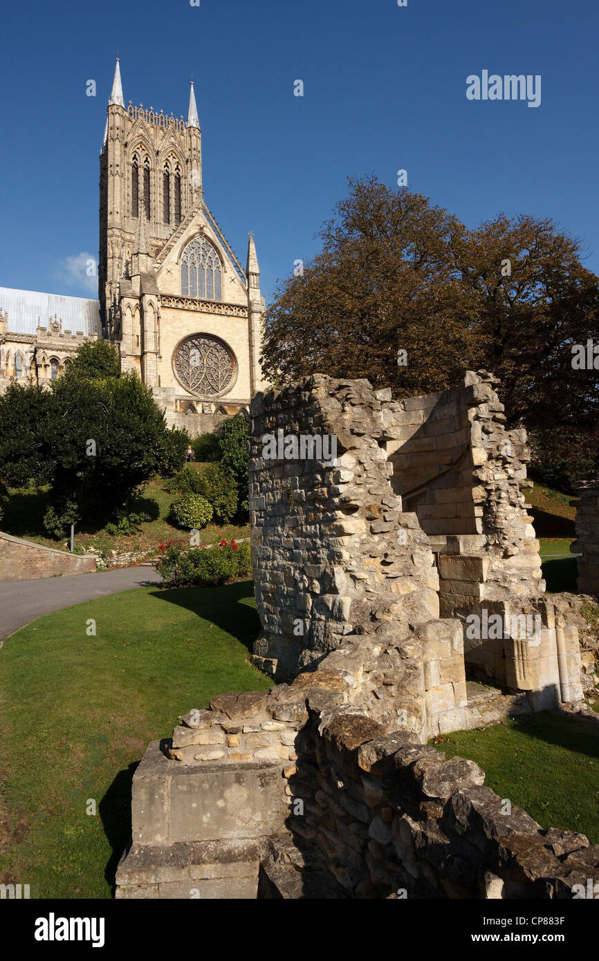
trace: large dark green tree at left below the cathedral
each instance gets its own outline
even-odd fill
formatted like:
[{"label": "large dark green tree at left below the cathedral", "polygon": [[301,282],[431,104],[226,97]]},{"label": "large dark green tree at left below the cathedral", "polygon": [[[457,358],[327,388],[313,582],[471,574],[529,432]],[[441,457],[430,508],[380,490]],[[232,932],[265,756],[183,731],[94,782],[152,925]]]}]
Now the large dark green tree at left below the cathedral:
[{"label": "large dark green tree at left below the cathedral", "polygon": [[50,391],[11,384],[0,398],[0,479],[49,483],[55,533],[76,517],[106,520],[154,474],[175,473],[188,441],[135,373],[69,374]]}]

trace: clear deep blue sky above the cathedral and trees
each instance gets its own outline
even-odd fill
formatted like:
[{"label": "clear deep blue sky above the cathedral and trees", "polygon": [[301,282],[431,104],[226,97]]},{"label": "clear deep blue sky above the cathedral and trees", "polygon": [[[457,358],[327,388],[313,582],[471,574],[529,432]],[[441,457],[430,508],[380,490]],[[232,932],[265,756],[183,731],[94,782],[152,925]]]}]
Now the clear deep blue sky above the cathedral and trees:
[{"label": "clear deep blue sky above the cathedral and trees", "polygon": [[[243,263],[254,232],[267,300],[318,251],[348,175],[395,185],[400,168],[468,226],[553,217],[599,273],[591,0],[34,0],[2,19],[0,285],[97,296],[85,261],[117,48],[126,104],[187,116],[193,73],[205,199]],[[540,74],[540,106],[468,101],[484,69]]]}]

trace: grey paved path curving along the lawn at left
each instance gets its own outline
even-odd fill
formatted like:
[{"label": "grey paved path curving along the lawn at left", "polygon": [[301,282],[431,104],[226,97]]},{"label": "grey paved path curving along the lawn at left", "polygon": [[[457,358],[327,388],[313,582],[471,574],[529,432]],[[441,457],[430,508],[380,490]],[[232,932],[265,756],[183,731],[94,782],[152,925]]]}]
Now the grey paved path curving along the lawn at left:
[{"label": "grey paved path curving along the lawn at left", "polygon": [[100,574],[0,581],[0,646],[14,630],[44,614],[92,598],[162,583],[151,566],[121,567]]}]

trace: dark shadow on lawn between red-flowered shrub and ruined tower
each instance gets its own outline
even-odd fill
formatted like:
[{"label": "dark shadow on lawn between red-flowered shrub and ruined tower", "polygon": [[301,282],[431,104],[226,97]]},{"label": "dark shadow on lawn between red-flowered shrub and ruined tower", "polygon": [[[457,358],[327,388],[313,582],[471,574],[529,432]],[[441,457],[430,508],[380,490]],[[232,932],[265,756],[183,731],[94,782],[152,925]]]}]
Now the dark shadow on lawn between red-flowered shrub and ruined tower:
[{"label": "dark shadow on lawn between red-flowered shrub and ruined tower", "polygon": [[186,607],[198,617],[226,630],[252,653],[260,631],[252,580],[237,580],[234,584],[224,584],[222,587],[166,588],[152,591],[151,596]]}]

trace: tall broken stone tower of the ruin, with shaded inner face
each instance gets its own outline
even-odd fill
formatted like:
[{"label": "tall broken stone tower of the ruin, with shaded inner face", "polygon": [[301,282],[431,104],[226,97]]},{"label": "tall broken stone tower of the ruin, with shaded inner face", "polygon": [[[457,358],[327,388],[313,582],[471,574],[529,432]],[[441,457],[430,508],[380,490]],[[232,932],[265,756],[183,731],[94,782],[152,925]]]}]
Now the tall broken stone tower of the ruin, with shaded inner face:
[{"label": "tall broken stone tower of the ruin, with shaded inner face", "polygon": [[[385,646],[425,630],[424,686],[402,695],[411,729],[423,736],[447,721],[466,724],[464,659],[470,678],[526,691],[534,709],[581,699],[577,630],[543,593],[521,491],[526,434],[506,431],[494,384],[484,371],[468,373],[452,390],[393,402],[367,381],[317,375],[257,395],[250,521],[258,666],[289,679],[348,635],[375,635]],[[323,456],[301,456],[307,437],[321,442]],[[327,460],[333,438],[337,457]],[[481,623],[499,616],[501,635],[468,633],[473,614]],[[533,636],[512,629],[522,621],[537,625]],[[438,672],[434,646],[447,630],[452,663]]]}]

